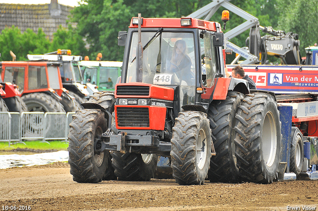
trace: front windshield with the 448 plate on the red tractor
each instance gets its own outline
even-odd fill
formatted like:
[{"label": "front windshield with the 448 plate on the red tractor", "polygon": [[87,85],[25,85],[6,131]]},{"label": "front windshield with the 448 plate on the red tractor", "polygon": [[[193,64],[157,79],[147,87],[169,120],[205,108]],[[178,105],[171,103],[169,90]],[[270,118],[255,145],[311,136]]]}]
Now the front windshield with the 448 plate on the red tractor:
[{"label": "front windshield with the 448 plate on the red tractor", "polygon": [[[142,32],[142,45],[149,44],[143,52],[142,81],[136,75],[138,33],[132,36],[126,82],[144,82],[157,85],[180,85],[181,105],[194,103],[195,53],[191,32]],[[183,97],[182,97],[183,96]]]}]

